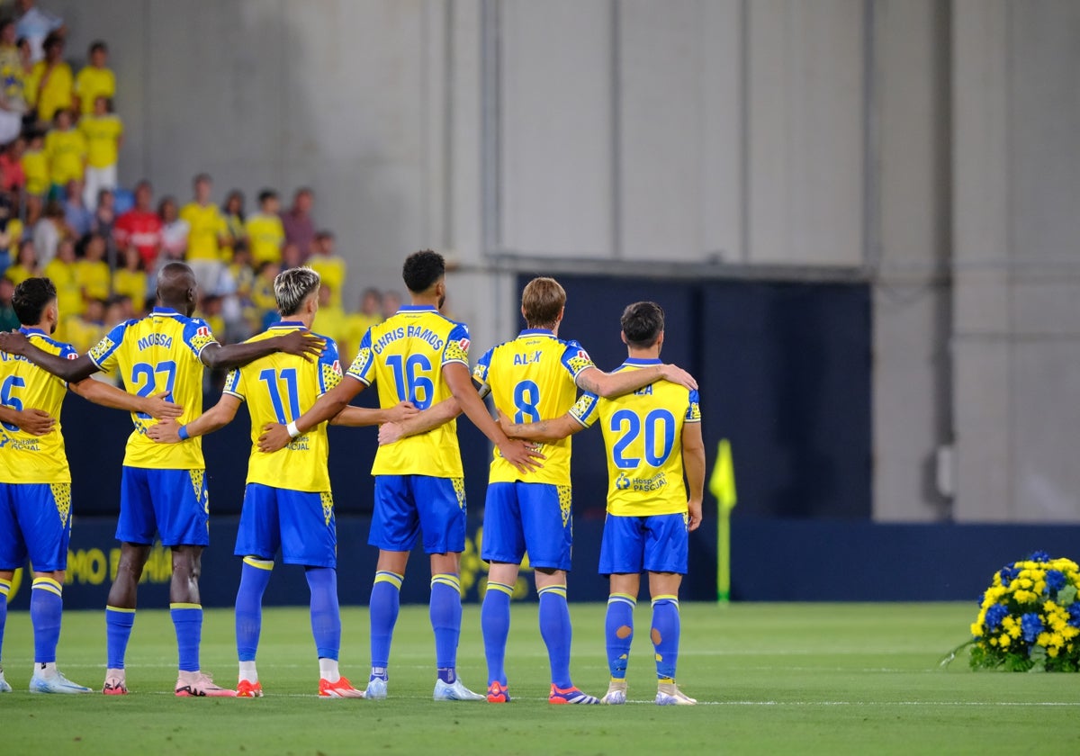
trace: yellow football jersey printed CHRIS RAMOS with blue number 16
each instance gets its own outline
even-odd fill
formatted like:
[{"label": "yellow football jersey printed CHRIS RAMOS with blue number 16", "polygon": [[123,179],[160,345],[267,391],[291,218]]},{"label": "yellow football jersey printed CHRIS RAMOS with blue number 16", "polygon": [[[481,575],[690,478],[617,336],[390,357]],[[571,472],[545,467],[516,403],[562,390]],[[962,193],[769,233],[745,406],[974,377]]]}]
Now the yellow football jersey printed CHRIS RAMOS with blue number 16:
[{"label": "yellow football jersey printed CHRIS RAMOS with blue number 16", "polygon": [[[451,362],[469,367],[468,326],[433,307],[406,305],[367,329],[346,375],[365,386],[378,382],[383,408],[409,401],[427,409],[451,396],[442,369]],[[462,477],[457,421],[380,446],[372,474]]]}]

